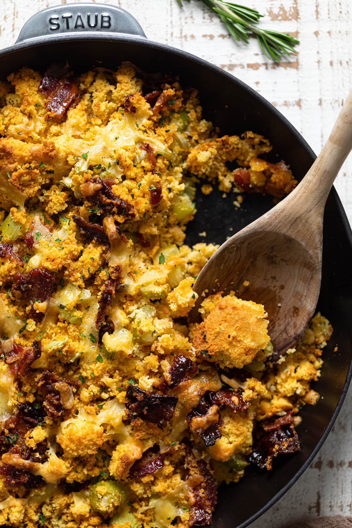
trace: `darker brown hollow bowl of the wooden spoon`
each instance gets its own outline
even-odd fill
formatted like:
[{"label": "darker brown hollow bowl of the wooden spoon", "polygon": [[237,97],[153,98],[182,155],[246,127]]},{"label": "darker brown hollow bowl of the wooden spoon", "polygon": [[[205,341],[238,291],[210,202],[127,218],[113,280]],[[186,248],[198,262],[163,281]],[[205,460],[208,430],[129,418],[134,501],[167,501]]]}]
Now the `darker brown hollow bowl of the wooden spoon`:
[{"label": "darker brown hollow bowl of the wooden spoon", "polygon": [[[321,253],[317,259],[316,253],[305,251],[301,241],[280,232],[253,231],[250,224],[238,236],[227,240],[207,262],[195,287],[202,292],[207,289],[206,295],[234,291],[241,299],[264,304],[269,318],[268,333],[274,336],[272,360],[277,361],[294,346],[309,324],[310,307],[317,305],[319,297],[320,263]],[[195,309],[203,299],[198,297]]]}]

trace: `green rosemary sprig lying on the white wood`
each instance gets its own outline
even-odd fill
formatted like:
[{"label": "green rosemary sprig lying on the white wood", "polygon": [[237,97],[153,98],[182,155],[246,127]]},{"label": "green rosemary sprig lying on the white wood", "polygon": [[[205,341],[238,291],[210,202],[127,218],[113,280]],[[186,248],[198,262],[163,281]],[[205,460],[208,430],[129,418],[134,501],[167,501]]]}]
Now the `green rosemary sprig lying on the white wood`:
[{"label": "green rosemary sprig lying on the white wood", "polygon": [[[182,6],[182,0],[177,2]],[[283,55],[291,55],[296,51],[294,46],[299,44],[299,40],[288,33],[261,29],[258,23],[263,15],[255,9],[225,0],[201,0],[201,2],[218,14],[227,31],[237,41],[242,40],[248,44],[250,34],[254,34],[268,59],[280,62]]]}]

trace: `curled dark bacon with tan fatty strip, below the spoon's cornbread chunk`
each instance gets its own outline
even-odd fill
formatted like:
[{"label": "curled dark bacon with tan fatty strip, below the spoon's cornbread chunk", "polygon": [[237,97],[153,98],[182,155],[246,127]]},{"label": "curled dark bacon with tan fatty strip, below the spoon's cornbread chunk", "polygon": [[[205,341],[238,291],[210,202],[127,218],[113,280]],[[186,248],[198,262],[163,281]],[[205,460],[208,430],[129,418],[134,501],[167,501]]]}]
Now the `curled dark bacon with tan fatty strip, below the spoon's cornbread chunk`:
[{"label": "curled dark bacon with tan fatty strip, below the spoon's cornbread chunk", "polygon": [[[239,392],[220,390],[207,391],[199,401],[198,406],[187,414],[187,422],[191,431],[202,438],[206,447],[213,446],[217,438],[221,438],[220,422],[214,423],[215,411],[229,406],[233,411],[244,411],[249,403],[244,402]],[[210,416],[212,415],[212,416]],[[198,420],[198,418],[203,420]],[[218,419],[220,418],[217,414]],[[209,424],[209,427],[205,428]]]}]

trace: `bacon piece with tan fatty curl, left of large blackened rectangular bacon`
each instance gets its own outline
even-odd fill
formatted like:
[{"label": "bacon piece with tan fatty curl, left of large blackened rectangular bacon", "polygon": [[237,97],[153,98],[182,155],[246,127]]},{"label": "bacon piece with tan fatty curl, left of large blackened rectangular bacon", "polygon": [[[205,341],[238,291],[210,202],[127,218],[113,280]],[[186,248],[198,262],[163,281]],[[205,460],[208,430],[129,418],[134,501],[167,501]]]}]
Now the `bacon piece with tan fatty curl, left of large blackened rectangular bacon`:
[{"label": "bacon piece with tan fatty curl, left of large blackened rectangular bacon", "polygon": [[[43,407],[52,420],[62,416],[65,411],[60,398],[58,383],[66,383],[67,385],[75,388],[78,388],[79,386],[77,382],[58,378],[58,376],[55,376],[55,374],[49,372],[48,370],[41,375],[37,382],[37,388],[44,396]],[[56,388],[55,385],[58,388]]]}]

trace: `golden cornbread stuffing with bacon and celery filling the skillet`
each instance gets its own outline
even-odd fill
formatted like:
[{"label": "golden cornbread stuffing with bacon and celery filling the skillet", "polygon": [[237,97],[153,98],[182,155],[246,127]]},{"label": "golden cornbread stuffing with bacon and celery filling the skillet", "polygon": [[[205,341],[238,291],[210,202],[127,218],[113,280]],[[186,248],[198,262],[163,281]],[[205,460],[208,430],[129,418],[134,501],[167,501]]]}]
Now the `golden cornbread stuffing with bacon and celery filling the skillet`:
[{"label": "golden cornbread stuffing with bacon and celery filling the skillet", "polygon": [[0,99],[0,524],[209,525],[221,482],[301,449],[332,328],[273,364],[260,304],[210,295],[187,325],[217,249],[184,243],[195,185],[240,204],[297,181],[130,63],[23,68]]}]

